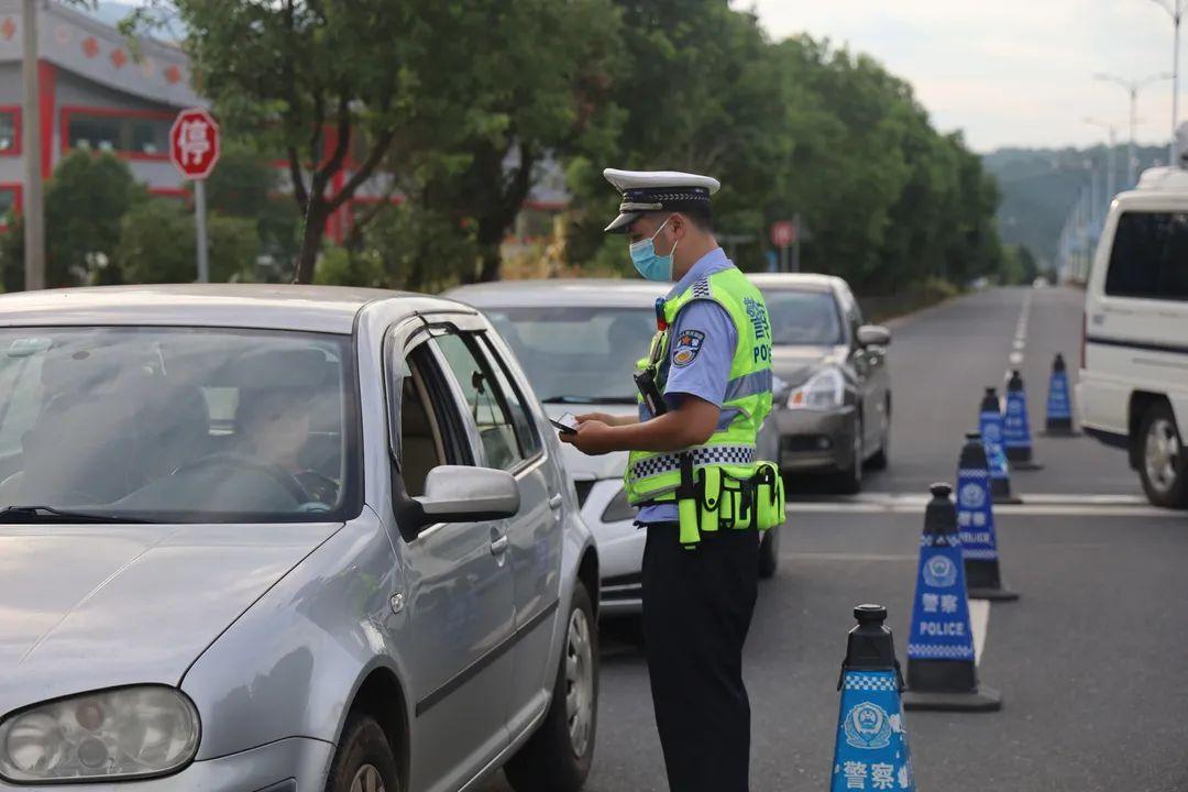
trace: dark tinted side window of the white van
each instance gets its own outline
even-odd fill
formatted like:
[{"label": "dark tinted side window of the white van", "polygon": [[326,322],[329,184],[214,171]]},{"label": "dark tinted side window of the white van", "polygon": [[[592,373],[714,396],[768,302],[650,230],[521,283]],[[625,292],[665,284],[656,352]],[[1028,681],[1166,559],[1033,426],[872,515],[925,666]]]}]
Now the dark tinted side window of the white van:
[{"label": "dark tinted side window of the white van", "polygon": [[1188,213],[1123,214],[1110,252],[1106,294],[1188,300]]}]

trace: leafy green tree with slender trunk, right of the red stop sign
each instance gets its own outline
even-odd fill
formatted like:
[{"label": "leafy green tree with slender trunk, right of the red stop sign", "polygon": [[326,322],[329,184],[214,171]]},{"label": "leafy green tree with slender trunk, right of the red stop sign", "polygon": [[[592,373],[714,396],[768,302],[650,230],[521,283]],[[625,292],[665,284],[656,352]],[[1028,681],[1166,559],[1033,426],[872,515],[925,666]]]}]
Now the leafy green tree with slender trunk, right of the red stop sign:
[{"label": "leafy green tree with slender trunk, right of the red stop sign", "polygon": [[176,14],[197,88],[233,134],[289,165],[309,283],[327,218],[377,173],[465,133],[475,64],[498,2],[150,0],[125,27]]}]

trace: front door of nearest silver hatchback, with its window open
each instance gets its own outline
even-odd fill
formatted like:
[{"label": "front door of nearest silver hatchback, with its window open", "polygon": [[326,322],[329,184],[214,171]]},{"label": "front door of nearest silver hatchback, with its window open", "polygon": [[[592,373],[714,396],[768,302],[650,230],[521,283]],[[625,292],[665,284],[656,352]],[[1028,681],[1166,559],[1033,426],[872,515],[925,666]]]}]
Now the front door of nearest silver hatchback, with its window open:
[{"label": "front door of nearest silver hatchback, with its window open", "polygon": [[[393,347],[385,354],[397,427],[393,496],[403,500],[424,493],[432,468],[481,464],[482,456],[461,389],[429,334]],[[507,745],[516,612],[505,527],[493,520],[400,531],[409,619],[402,650],[416,718],[411,788],[453,791]]]}]

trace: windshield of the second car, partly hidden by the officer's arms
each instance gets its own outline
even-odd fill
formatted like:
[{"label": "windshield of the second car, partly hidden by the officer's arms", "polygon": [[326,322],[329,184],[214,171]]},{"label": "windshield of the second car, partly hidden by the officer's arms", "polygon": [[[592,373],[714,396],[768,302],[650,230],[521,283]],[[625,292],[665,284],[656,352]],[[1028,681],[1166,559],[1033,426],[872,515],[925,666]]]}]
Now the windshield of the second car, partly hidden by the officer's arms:
[{"label": "windshield of the second car, partly hidden by the officer's arms", "polygon": [[636,403],[631,379],[656,332],[652,309],[485,310],[544,401]]}]

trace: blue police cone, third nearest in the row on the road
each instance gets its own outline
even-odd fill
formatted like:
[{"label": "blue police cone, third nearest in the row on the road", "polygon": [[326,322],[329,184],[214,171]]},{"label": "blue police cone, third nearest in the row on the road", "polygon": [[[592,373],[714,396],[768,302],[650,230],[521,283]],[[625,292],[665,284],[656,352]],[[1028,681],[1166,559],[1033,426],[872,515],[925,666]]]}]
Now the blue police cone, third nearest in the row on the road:
[{"label": "blue police cone, third nearest in the row on the road", "polygon": [[990,482],[982,437],[968,432],[958,462],[958,532],[965,559],[966,591],[972,600],[1018,600],[1018,594],[1003,588],[998,569]]}]

